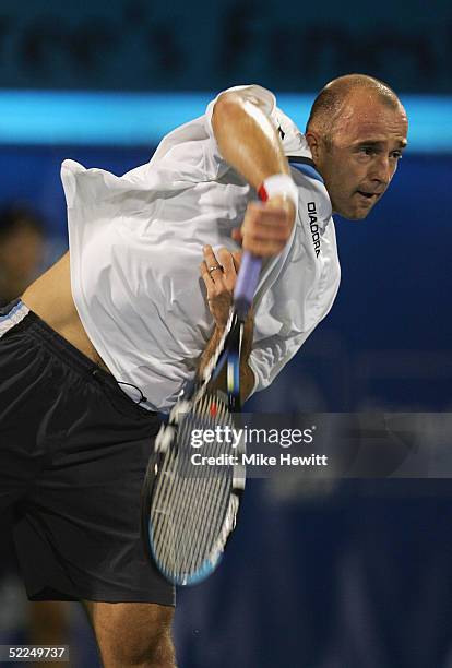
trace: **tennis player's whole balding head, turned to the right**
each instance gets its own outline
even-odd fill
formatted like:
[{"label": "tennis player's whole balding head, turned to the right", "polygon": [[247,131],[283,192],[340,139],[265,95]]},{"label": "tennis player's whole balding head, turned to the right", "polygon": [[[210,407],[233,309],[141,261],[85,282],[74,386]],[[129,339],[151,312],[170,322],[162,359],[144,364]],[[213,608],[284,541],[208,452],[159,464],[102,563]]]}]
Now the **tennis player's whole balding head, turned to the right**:
[{"label": "tennis player's whole balding head, turned to the right", "polygon": [[306,140],[334,212],[368,215],[395,174],[407,130],[405,109],[378,79],[348,74],[319,93]]}]

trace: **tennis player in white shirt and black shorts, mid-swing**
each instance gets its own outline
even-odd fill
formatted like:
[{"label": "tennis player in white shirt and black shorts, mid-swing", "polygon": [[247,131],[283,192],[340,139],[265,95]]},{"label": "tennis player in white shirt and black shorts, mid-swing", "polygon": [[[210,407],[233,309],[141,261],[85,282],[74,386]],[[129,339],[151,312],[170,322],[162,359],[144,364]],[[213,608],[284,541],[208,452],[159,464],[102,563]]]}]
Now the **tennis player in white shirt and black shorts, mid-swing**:
[{"label": "tennis player in white shirt and black shorts, mid-swing", "polygon": [[174,592],[142,557],[140,488],[158,411],[222,333],[240,246],[264,258],[250,394],[329,312],[332,213],[368,215],[406,132],[391,88],[348,75],[319,94],[306,135],[272,93],[240,86],[121,178],[63,163],[70,253],[0,318],[0,510],[14,506],[29,597],[84,601],[105,666],[175,666]]}]

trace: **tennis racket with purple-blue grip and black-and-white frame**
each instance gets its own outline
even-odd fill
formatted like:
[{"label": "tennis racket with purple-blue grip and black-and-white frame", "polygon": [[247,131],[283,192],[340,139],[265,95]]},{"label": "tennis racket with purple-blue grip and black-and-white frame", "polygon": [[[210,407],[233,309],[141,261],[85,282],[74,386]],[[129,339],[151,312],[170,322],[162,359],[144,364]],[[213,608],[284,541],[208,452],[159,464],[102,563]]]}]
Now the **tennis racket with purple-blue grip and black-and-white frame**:
[{"label": "tennis racket with purple-blue grip and black-and-white frame", "polygon": [[[142,492],[144,548],[166,580],[176,585],[207,577],[236,525],[246,472],[245,444],[231,431],[233,415],[240,410],[243,323],[261,262],[243,253],[222,339],[202,377],[183,390],[167,425],[162,426],[147,466]],[[212,390],[211,384],[224,369],[227,394]],[[215,438],[203,440],[197,450],[193,434],[206,433]],[[209,460],[202,463],[201,457]]]}]

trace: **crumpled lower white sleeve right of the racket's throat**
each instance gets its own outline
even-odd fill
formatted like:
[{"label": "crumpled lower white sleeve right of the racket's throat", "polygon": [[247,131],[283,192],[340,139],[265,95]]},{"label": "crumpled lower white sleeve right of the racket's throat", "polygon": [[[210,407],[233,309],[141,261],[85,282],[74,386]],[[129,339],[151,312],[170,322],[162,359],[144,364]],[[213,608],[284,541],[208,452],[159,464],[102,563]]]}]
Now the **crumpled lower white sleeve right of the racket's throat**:
[{"label": "crumpled lower white sleeve right of the racket's throat", "polygon": [[[314,327],[301,332],[290,338],[272,336],[253,345],[248,363],[254,373],[254,392],[265,390],[276,378],[286,363],[298,353]],[[250,395],[251,396],[251,395]]]}]

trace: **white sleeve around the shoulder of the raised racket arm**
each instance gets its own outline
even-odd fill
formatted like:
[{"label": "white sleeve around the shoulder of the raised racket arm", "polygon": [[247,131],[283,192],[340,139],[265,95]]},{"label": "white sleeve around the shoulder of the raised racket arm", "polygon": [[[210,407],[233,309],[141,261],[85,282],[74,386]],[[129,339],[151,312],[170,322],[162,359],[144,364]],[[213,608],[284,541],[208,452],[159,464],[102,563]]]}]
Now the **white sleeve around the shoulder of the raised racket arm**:
[{"label": "white sleeve around the shoulder of the raised racket arm", "polygon": [[249,99],[254,105],[258,105],[265,114],[273,120],[275,127],[277,127],[277,118],[276,118],[276,98],[266,88],[262,86],[258,86],[257,84],[243,85],[243,86],[233,86],[231,88],[227,88],[226,91],[222,91],[218,95],[209,103],[207,108],[204,115],[205,122],[205,131],[209,135],[209,151],[204,156],[206,163],[206,170],[216,174],[217,176],[222,176],[225,174],[230,166],[223,158],[222,154],[218,150],[218,144],[216,143],[215,134],[212,128],[212,115],[214,110],[214,106],[218,100],[218,97],[224,93],[233,93],[240,92],[240,95]]}]

